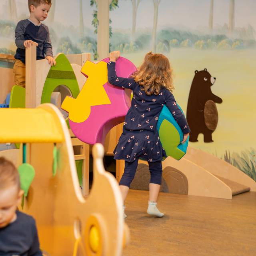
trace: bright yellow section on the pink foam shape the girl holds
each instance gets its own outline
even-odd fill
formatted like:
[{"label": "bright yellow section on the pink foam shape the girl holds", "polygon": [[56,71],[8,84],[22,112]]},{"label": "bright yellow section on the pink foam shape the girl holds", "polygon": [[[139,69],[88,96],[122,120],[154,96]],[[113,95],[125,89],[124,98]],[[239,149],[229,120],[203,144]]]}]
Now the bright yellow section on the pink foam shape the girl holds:
[{"label": "bright yellow section on the pink foam shape the girl holds", "polygon": [[81,72],[88,76],[82,90],[76,99],[67,96],[61,105],[69,113],[69,119],[76,123],[82,123],[90,116],[91,106],[111,104],[103,87],[108,82],[107,63],[94,64],[87,60]]}]

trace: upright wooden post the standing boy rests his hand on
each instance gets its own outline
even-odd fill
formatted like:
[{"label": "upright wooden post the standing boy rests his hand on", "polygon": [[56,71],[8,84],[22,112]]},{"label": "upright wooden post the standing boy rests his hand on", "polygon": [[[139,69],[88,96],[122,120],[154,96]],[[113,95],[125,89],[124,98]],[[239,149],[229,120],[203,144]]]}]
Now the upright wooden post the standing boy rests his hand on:
[{"label": "upright wooden post the standing boy rests his hand on", "polygon": [[26,49],[26,108],[36,107],[36,44]]}]

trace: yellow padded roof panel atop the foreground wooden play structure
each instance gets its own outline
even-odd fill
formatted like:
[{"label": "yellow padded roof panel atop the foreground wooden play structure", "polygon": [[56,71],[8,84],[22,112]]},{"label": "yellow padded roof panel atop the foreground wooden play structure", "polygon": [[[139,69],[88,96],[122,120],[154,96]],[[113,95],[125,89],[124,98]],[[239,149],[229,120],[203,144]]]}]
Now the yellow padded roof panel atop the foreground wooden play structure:
[{"label": "yellow padded roof panel atop the foreground wooden play structure", "polygon": [[44,109],[2,108],[0,116],[0,143],[64,141],[59,121]]}]

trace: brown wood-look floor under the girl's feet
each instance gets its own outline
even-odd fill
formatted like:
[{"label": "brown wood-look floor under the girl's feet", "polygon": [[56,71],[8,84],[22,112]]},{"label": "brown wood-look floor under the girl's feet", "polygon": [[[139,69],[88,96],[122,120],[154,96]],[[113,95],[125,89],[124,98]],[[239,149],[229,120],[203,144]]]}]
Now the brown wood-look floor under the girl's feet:
[{"label": "brown wood-look floor under the girl's feet", "polygon": [[148,192],[130,190],[123,256],[256,256],[256,192],[233,200],[161,193],[163,218],[146,213]]}]

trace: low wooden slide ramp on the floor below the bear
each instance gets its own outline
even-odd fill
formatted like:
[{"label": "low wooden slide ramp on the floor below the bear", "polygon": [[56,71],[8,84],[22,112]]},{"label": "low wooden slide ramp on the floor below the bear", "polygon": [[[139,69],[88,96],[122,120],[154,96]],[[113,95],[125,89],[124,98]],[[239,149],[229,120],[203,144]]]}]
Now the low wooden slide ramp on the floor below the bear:
[{"label": "low wooden slide ramp on the floor below the bear", "polygon": [[194,196],[232,199],[256,191],[256,182],[231,164],[204,151],[188,147],[179,161],[163,161],[163,177],[169,192]]}]

